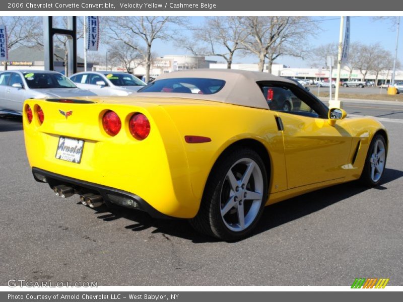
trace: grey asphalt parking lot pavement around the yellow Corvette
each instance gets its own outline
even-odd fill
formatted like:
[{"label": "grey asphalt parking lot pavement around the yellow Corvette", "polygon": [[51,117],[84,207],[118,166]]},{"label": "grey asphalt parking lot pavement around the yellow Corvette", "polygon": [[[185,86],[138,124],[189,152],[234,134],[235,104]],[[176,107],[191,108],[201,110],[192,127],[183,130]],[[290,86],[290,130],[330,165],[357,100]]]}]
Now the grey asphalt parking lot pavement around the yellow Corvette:
[{"label": "grey asphalt parking lot pavement around the yellow Corvette", "polygon": [[266,207],[254,235],[236,243],[201,236],[183,220],[56,197],[32,177],[21,118],[0,117],[0,285],[351,285],[358,277],[403,285],[403,106],[345,105],[350,114],[382,115],[390,141],[383,183]]}]

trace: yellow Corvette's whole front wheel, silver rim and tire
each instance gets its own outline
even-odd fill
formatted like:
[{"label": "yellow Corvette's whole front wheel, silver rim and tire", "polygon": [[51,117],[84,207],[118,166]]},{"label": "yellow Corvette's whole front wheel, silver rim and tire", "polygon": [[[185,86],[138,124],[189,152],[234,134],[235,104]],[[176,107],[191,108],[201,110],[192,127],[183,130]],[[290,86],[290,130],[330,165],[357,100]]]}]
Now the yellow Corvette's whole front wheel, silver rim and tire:
[{"label": "yellow Corvette's whole front wheel, silver rim and tire", "polygon": [[361,181],[367,186],[376,186],[382,179],[386,164],[386,142],[382,135],[372,139],[365,160]]}]

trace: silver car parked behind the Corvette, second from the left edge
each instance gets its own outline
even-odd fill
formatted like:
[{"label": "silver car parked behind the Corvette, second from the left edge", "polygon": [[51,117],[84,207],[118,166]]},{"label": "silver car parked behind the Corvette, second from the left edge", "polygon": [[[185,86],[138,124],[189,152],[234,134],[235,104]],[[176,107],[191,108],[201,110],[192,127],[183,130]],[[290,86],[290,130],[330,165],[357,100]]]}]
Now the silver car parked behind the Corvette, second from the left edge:
[{"label": "silver car parked behind the Corvette, second from the left edge", "polygon": [[78,72],[70,80],[98,96],[128,96],[147,85],[132,74],[115,71]]}]

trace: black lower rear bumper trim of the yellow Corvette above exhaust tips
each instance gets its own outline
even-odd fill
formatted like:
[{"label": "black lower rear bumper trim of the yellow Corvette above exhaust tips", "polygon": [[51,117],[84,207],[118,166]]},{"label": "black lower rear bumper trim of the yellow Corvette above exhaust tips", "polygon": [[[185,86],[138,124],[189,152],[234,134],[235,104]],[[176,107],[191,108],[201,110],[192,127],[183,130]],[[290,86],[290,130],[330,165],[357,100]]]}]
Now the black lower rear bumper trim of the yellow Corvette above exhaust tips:
[{"label": "black lower rear bumper trim of the yellow Corvette above exhaust tips", "polygon": [[[150,216],[154,218],[175,218],[159,212],[143,198],[130,192],[63,176],[35,167],[32,168],[32,174],[37,182],[45,182],[49,184],[51,188],[58,185],[66,185],[75,188],[77,191],[81,191],[83,194],[91,192],[101,195],[106,204],[112,203],[131,209],[141,210],[147,212]],[[129,203],[131,205],[127,205],[127,203],[122,204],[118,200],[130,200],[133,202]]]}]

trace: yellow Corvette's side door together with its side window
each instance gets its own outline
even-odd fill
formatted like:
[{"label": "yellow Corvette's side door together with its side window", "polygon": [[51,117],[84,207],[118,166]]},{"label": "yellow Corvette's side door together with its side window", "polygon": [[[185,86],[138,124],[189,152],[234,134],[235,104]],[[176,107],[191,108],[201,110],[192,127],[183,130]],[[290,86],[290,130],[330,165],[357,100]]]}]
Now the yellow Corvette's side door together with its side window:
[{"label": "yellow Corvette's side door together with its side window", "polygon": [[345,177],[352,144],[347,122],[330,125],[328,108],[302,86],[258,84],[283,132],[287,188]]}]

